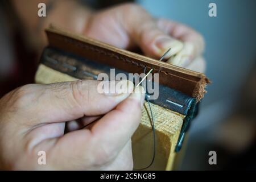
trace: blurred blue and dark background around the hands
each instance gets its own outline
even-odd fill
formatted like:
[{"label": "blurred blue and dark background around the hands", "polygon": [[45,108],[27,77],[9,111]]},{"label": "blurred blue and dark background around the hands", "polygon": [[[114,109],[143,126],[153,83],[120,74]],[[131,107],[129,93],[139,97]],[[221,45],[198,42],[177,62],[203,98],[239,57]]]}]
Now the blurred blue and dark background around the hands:
[{"label": "blurred blue and dark background around the hands", "polygon": [[[81,1],[102,9],[125,1]],[[156,17],[195,28],[205,38],[206,75],[212,81],[189,130],[181,170],[256,169],[256,1],[135,1]],[[209,3],[217,17],[208,15]],[[26,46],[15,10],[0,3],[0,97],[34,82],[38,53]],[[209,165],[208,152],[217,152]]]}]

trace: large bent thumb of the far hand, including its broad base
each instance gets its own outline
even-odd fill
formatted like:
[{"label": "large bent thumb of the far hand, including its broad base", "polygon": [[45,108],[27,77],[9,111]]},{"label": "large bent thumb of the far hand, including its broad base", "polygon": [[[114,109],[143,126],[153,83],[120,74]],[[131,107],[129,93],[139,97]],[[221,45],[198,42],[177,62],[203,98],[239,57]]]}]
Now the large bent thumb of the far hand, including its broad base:
[{"label": "large bent thumb of the far hand, including its broad base", "polygon": [[183,46],[165,34],[146,10],[131,3],[93,15],[85,34],[120,48],[139,46],[145,55],[155,58],[169,48],[172,49],[166,57],[175,55]]}]

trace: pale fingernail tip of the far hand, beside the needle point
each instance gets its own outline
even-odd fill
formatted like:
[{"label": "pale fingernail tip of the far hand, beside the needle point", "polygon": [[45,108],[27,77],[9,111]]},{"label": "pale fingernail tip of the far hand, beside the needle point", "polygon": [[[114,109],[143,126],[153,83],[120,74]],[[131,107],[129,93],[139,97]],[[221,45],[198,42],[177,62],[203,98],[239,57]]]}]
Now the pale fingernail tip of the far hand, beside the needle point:
[{"label": "pale fingernail tip of the far hand, beside the needle point", "polygon": [[167,49],[171,48],[166,57],[170,57],[181,51],[183,43],[169,36],[164,36],[155,40],[155,50],[158,55],[163,55]]}]

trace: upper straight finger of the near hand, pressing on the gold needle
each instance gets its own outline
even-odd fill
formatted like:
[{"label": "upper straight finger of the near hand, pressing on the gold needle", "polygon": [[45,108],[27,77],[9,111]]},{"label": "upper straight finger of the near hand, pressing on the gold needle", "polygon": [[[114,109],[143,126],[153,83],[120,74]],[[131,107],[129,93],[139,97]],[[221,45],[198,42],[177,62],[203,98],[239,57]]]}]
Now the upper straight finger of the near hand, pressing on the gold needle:
[{"label": "upper straight finger of the near hand, pressing on the gold needle", "polygon": [[[41,85],[42,92],[31,107],[33,125],[38,123],[72,121],[84,116],[105,114],[114,109],[132,92],[133,82],[110,81],[106,85],[114,86],[113,93],[98,88],[101,81],[79,80],[73,82],[60,82],[56,84]],[[114,85],[113,85],[114,84]],[[123,85],[123,90],[115,86]]]}]

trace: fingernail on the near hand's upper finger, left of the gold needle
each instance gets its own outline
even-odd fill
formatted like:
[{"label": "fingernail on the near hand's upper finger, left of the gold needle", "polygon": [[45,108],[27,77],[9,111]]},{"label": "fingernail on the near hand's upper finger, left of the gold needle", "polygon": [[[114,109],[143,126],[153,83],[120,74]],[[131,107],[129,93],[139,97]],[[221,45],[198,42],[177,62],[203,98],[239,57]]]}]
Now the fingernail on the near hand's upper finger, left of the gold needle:
[{"label": "fingernail on the near hand's upper finger, left of the gold needle", "polygon": [[121,94],[130,94],[133,92],[134,84],[129,80],[111,80],[101,82],[98,85],[98,90],[106,96],[119,96]]}]

